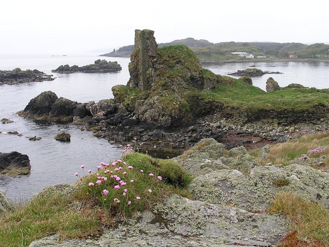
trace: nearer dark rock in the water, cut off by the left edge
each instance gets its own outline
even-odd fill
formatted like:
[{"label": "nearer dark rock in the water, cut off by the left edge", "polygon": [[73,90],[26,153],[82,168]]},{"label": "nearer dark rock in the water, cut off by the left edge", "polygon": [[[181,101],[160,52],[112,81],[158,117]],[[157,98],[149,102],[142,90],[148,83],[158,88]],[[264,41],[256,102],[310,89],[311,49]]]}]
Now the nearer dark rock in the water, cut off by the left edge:
[{"label": "nearer dark rock in the water, cut off by the left edge", "polygon": [[0,153],[0,174],[17,176],[30,174],[29,156],[16,151]]}]

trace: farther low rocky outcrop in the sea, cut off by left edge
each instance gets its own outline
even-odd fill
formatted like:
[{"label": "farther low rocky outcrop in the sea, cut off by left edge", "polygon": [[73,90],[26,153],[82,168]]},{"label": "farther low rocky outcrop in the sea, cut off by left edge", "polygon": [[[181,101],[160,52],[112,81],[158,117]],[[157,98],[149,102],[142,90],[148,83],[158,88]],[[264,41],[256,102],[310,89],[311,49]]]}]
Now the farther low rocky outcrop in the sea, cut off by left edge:
[{"label": "farther low rocky outcrop in the sea, cut off by left edge", "polygon": [[53,81],[54,78],[51,77],[52,75],[47,75],[37,69],[21,70],[20,68],[15,68],[13,70],[0,70],[0,85],[14,85],[26,82]]}]

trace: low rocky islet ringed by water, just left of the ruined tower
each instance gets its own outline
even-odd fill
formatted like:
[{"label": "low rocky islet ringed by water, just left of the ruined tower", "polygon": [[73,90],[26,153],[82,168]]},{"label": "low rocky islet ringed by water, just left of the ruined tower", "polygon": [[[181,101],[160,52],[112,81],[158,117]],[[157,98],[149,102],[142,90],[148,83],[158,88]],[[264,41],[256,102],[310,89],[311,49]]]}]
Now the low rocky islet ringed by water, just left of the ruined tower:
[{"label": "low rocky islet ringed by water, just left of the ruined tower", "polygon": [[95,64],[93,65],[86,65],[86,66],[68,66],[68,65],[61,65],[56,69],[51,70],[51,72],[60,73],[60,74],[69,74],[69,73],[109,73],[121,70],[121,66],[117,64],[117,62],[107,62],[106,60],[96,60]]}]

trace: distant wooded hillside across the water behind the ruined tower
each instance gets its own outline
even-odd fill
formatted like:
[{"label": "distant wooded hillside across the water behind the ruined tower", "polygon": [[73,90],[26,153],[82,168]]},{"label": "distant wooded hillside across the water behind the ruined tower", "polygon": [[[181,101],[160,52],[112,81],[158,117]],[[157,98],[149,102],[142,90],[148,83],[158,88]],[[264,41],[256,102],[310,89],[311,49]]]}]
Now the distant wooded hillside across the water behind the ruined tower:
[{"label": "distant wooded hillside across the water behind the ruined tower", "polygon": [[[232,56],[230,52],[247,52],[256,56],[271,56],[289,58],[290,55],[296,55],[300,58],[328,58],[329,45],[302,43],[276,43],[276,42],[220,42],[211,43],[207,40],[186,38],[174,40],[169,43],[159,43],[158,47],[171,45],[185,45],[193,50],[202,62],[219,62],[225,60],[246,60],[245,57]],[[130,57],[134,50],[134,45],[123,46],[110,53],[100,56],[108,57]]]}]

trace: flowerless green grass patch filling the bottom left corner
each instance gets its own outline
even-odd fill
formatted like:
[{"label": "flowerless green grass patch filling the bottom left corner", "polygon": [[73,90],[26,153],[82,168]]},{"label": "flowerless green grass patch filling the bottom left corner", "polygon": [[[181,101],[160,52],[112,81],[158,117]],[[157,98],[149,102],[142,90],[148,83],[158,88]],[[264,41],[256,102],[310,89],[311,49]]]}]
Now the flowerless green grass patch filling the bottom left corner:
[{"label": "flowerless green grass patch filling the bottom left corner", "polygon": [[0,215],[0,247],[25,247],[54,233],[62,239],[96,237],[100,232],[98,214],[75,211],[70,206],[73,201],[72,196],[54,193]]}]

